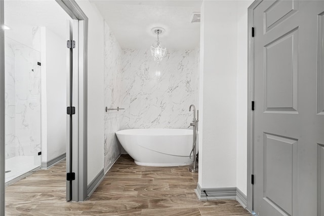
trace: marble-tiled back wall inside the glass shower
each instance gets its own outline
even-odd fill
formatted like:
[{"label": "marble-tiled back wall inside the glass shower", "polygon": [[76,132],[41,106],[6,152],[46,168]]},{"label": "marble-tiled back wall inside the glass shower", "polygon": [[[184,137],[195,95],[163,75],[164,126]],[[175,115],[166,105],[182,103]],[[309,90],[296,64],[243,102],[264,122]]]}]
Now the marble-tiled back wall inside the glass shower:
[{"label": "marble-tiled back wall inside the glass shower", "polygon": [[40,58],[29,47],[15,47],[16,156],[35,156],[41,151]]}]

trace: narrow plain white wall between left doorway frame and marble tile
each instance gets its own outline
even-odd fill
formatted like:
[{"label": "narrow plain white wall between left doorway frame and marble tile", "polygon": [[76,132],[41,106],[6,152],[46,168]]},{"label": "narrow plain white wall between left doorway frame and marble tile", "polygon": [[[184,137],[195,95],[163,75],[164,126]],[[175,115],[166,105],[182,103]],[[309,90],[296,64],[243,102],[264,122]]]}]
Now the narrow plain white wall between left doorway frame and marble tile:
[{"label": "narrow plain white wall between left doorway frame and marble tile", "polygon": [[88,30],[88,184],[104,167],[104,20],[89,1],[76,3],[89,19]]}]

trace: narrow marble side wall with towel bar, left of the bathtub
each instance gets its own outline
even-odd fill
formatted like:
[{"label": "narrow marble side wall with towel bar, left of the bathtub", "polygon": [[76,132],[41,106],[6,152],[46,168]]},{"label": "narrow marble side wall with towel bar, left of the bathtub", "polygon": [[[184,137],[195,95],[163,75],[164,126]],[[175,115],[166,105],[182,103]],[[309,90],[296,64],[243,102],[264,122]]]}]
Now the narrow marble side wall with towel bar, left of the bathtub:
[{"label": "narrow marble side wall with towel bar, left of the bathtub", "polygon": [[[114,109],[120,106],[120,62],[121,48],[105,22],[104,25],[104,86],[105,105]],[[108,111],[104,116],[104,171],[106,172],[120,155],[122,148],[118,144],[115,132],[120,129],[120,111]]]}]

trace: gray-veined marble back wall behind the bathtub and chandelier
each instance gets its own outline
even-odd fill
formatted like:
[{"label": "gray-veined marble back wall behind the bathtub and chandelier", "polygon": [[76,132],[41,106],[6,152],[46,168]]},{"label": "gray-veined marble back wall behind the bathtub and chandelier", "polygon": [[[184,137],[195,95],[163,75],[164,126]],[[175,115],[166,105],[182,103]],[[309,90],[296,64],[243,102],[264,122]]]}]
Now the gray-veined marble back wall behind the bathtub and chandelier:
[{"label": "gray-veined marble back wall behind the bathtub and chandelier", "polygon": [[123,49],[123,129],[187,128],[198,109],[199,49],[169,50],[157,63],[147,50]]}]

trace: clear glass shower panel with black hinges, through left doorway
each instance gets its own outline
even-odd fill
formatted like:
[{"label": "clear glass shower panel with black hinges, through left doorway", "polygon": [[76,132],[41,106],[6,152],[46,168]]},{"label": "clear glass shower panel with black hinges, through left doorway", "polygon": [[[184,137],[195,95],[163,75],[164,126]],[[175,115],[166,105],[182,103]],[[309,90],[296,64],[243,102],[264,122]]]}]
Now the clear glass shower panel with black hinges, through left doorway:
[{"label": "clear glass shower panel with black hinges, through left doorway", "polygon": [[41,166],[41,54],[5,37],[6,183]]}]

